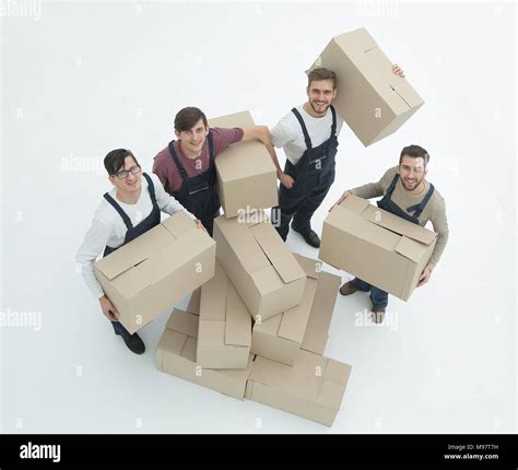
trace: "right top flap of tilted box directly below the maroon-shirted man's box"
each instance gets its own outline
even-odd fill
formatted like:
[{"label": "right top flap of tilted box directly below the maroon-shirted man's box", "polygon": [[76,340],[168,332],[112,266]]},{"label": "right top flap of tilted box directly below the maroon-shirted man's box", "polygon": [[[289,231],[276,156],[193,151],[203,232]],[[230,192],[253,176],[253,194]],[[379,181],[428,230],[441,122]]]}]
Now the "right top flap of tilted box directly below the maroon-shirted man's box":
[{"label": "right top flap of tilted box directly below the maroon-shirted man's box", "polygon": [[292,252],[270,224],[257,224],[250,227],[260,247],[285,283],[305,277]]}]

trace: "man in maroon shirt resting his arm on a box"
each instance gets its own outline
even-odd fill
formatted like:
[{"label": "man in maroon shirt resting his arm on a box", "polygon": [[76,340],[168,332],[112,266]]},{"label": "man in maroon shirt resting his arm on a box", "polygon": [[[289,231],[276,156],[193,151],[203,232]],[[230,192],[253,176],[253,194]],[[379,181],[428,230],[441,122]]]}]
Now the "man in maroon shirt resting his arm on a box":
[{"label": "man in maroon shirt resting his arm on a box", "polygon": [[[214,218],[220,215],[214,158],[231,143],[259,140],[270,153],[278,172],[279,161],[266,126],[209,128],[205,115],[196,107],[181,109],[175,117],[177,141],[158,152],[153,173],[165,190],[195,214],[212,236]],[[246,157],[246,156],[245,156]]]}]

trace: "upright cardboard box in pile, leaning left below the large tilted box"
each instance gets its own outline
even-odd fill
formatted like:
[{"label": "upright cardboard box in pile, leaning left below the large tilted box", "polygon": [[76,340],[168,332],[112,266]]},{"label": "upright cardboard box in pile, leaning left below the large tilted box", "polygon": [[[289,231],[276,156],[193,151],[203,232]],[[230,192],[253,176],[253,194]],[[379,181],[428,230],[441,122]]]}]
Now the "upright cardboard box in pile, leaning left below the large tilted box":
[{"label": "upright cardboard box in pile, leaning left below the large tilted box", "polygon": [[216,261],[215,275],[201,286],[197,363],[203,368],[246,368],[251,316]]}]

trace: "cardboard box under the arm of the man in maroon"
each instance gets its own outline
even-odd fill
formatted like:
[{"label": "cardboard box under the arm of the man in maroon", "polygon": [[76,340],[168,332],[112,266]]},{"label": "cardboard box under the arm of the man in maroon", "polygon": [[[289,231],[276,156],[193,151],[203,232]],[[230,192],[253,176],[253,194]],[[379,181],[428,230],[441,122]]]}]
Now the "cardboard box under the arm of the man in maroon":
[{"label": "cardboard box under the arm of the man in maroon", "polygon": [[[249,111],[209,120],[210,127],[255,126]],[[226,218],[278,204],[276,169],[259,141],[236,142],[215,158],[217,189]]]}]

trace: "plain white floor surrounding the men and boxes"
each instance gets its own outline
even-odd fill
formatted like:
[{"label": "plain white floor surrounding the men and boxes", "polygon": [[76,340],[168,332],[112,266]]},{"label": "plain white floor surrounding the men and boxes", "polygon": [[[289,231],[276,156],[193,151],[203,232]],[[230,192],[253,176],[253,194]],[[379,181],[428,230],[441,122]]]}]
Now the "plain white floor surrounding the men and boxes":
[{"label": "plain white floor surrounding the men and boxes", "polygon": [[[1,24],[1,312],[40,320],[0,329],[2,432],[516,432],[513,4],[37,7],[4,12]],[[249,109],[273,126],[304,101],[303,72],[331,36],[360,26],[426,104],[368,149],[344,127],[339,177],[314,225],[343,189],[378,179],[419,143],[447,201],[450,240],[428,285],[409,303],[390,298],[385,325],[364,324],[366,295],[337,303],[326,355],[353,371],[327,428],[157,372],[166,314],[142,330],[146,353],[129,353],[74,255],[109,188],[109,150],[129,148],[151,171],[186,105],[210,117]],[[316,255],[296,234],[289,246]]]}]

